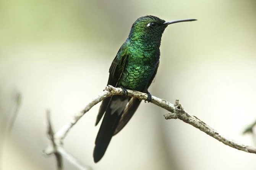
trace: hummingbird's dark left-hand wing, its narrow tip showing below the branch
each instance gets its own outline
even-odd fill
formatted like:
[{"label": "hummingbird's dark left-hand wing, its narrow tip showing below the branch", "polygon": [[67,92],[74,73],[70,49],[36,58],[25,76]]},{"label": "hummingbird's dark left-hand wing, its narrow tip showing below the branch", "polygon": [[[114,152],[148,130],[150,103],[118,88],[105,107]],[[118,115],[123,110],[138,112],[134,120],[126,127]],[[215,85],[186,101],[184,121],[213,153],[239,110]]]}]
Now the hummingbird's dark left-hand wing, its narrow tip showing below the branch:
[{"label": "hummingbird's dark left-hand wing, its narrow tip showing below the branch", "polygon": [[[108,80],[107,85],[112,85],[114,87],[117,87],[117,83],[123,73],[127,55],[125,54],[126,51],[122,50],[122,53],[121,53],[122,47],[123,47],[123,45],[118,50],[117,55],[115,56],[114,60],[112,61],[111,66],[109,68],[109,80]],[[102,101],[102,103],[100,105],[99,113],[97,115],[96,125],[99,123],[101,117],[103,116],[104,112],[106,111],[111,98],[112,97],[105,98]]]}]

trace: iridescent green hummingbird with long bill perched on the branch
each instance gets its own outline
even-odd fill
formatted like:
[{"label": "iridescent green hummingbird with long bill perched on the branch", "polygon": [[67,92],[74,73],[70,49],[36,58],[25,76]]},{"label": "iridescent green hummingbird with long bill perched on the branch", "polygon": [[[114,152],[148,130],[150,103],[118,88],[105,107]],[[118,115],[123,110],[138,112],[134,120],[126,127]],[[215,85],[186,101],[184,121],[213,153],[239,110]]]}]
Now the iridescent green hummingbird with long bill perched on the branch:
[{"label": "iridescent green hummingbird with long bill perched on the branch", "polygon": [[94,162],[104,156],[112,136],[122,130],[141,103],[141,100],[127,96],[127,89],[147,93],[146,101],[151,101],[147,89],[159,66],[162,34],[168,25],[185,21],[196,19],[165,22],[156,16],[147,15],[133,23],[128,38],[118,50],[109,69],[107,85],[121,87],[123,95],[105,98],[100,105],[96,125],[105,115],[95,140]]}]

